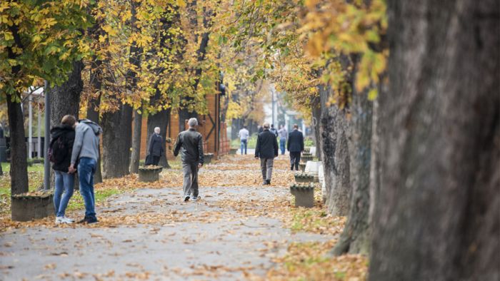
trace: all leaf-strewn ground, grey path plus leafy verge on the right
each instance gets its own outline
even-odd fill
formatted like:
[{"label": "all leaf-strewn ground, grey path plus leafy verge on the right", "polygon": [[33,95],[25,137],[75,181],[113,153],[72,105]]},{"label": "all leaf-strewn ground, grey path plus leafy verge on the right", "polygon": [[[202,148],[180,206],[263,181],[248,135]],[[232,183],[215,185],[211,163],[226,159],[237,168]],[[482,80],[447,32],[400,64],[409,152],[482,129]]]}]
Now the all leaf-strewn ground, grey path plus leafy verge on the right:
[{"label": "all leaf-strewn ground, grey path plus leafy verge on the right", "polygon": [[[0,219],[2,280],[364,280],[367,260],[329,257],[345,218],[295,208],[288,158],[276,160],[271,186],[259,161],[226,156],[199,175],[197,202],[181,200],[180,170],[156,183],[136,175],[96,185],[94,225],[55,225],[54,217]],[[74,196],[67,215],[81,218]]]}]

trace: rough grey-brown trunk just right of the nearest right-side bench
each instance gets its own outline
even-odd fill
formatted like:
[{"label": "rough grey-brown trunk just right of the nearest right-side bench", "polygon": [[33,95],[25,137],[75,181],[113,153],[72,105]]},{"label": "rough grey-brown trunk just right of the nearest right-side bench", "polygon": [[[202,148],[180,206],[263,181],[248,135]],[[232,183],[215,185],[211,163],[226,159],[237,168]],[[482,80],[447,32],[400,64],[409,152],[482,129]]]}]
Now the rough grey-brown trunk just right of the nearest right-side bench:
[{"label": "rough grey-brown trunk just right of the nearest right-side bench", "polygon": [[347,215],[351,183],[347,145],[349,124],[346,120],[346,109],[340,109],[336,105],[326,109],[321,117],[320,130],[326,205],[331,215]]}]

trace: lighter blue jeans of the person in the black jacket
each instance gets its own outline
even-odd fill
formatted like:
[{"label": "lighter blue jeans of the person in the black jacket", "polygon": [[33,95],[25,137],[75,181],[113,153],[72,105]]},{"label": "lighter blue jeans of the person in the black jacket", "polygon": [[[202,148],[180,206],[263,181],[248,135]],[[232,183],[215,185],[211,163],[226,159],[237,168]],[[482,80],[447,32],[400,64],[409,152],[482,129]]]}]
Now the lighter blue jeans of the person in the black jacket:
[{"label": "lighter blue jeans of the person in the black jacket", "polygon": [[[56,188],[54,189],[54,211],[56,217],[64,217],[69,199],[73,196],[75,175],[60,170],[54,170],[56,174]],[[64,190],[64,195],[63,195]]]}]

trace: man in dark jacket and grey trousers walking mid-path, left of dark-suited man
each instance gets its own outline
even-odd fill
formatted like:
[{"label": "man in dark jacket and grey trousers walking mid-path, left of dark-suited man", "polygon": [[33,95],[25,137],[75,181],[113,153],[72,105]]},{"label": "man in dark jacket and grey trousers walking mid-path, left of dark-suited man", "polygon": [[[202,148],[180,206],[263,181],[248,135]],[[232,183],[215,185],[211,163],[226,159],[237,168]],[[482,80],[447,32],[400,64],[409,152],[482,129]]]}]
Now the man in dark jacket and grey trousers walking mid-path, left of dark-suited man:
[{"label": "man in dark jacket and grey trousers walking mid-path, left of dark-suited man", "polygon": [[271,184],[274,158],[278,157],[278,141],[276,135],[269,131],[269,123],[264,123],[264,131],[257,137],[255,158],[261,160],[262,185]]}]

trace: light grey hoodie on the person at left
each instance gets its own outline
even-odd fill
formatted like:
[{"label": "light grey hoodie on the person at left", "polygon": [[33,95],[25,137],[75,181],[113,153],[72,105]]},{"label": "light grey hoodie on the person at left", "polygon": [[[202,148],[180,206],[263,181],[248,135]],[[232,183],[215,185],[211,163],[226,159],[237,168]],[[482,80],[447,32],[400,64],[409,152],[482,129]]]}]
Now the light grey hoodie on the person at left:
[{"label": "light grey hoodie on the person at left", "polygon": [[82,157],[99,159],[99,135],[101,127],[96,123],[84,119],[79,121],[75,128],[75,141],[71,152],[71,164]]}]

